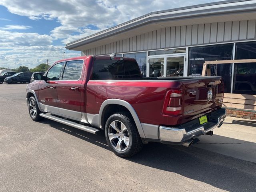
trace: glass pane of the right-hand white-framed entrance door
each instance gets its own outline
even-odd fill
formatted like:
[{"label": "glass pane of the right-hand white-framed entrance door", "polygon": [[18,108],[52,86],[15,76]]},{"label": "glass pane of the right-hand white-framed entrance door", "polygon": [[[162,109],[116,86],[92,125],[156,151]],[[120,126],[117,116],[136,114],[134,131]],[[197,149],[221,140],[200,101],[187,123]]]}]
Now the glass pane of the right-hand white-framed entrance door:
[{"label": "glass pane of the right-hand white-framed entrance door", "polygon": [[183,76],[184,57],[167,58],[167,77]]}]

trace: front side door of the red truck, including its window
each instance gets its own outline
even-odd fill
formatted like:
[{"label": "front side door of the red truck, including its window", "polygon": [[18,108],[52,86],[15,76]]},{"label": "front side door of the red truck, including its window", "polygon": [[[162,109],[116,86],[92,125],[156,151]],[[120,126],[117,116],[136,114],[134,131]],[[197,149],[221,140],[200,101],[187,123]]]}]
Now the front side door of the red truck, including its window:
[{"label": "front side door of the red truck, including its window", "polygon": [[53,114],[59,114],[57,106],[57,84],[60,80],[60,73],[63,62],[57,63],[46,73],[47,80],[39,84],[38,97],[42,110]]}]

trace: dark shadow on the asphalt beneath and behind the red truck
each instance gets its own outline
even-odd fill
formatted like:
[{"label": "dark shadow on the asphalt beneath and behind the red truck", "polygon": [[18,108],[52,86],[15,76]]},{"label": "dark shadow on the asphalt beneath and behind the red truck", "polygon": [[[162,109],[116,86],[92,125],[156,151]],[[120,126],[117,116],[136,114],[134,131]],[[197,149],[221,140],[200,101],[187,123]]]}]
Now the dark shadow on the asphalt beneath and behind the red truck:
[{"label": "dark shadow on the asphalt beneath and behind the red truck", "polygon": [[[103,131],[94,135],[47,119],[41,123],[50,124],[52,128],[109,150]],[[196,147],[149,143],[144,145],[139,154],[126,160],[167,172],[175,172],[186,178],[231,192],[255,192],[256,190],[255,163]],[[170,178],[172,179],[175,178]],[[196,191],[196,188],[192,191]]]}]

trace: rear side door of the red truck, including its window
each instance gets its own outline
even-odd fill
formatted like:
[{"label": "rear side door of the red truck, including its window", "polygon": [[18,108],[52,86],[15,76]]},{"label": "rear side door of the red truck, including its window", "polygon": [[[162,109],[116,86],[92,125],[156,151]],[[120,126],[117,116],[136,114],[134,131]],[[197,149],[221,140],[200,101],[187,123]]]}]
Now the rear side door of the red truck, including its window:
[{"label": "rear side door of the red truck, including its window", "polygon": [[82,69],[84,60],[70,60],[64,65],[61,80],[58,82],[58,109],[61,115],[74,120],[81,120],[81,94],[84,92]]}]

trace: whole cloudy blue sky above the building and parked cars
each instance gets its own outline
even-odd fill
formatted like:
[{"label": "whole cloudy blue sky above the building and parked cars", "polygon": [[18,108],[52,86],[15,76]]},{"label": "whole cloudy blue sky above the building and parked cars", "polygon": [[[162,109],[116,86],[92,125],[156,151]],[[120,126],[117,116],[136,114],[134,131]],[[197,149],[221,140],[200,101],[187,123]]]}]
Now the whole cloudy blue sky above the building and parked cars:
[{"label": "whole cloudy blue sky above the building and parked cars", "polygon": [[0,68],[81,56],[66,43],[144,14],[217,0],[1,0]]}]

